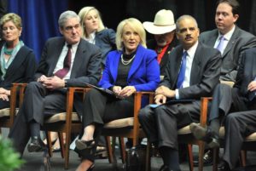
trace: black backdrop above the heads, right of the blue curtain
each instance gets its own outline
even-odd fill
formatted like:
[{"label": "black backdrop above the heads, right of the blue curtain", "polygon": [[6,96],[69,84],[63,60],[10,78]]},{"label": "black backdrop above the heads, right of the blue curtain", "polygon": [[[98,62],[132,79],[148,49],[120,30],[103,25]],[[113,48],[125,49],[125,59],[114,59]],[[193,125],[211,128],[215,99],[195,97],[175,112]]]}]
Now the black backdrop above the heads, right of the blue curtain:
[{"label": "black backdrop above the heads, right of the blue curtain", "polygon": [[[182,14],[195,17],[201,31],[215,28],[214,15],[218,0],[76,0],[70,1],[71,8],[79,12],[84,6],[95,6],[102,13],[106,26],[116,30],[120,20],[135,17],[153,21],[160,9],[171,9],[175,19]],[[256,0],[238,0],[241,4],[237,25],[256,35]],[[148,34],[148,38],[152,35]]]}]

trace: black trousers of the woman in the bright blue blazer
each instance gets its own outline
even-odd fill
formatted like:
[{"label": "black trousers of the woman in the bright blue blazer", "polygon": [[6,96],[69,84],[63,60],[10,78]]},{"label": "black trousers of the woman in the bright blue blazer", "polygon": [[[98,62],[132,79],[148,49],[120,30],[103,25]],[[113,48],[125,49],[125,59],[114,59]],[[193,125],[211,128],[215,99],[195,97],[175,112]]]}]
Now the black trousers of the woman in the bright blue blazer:
[{"label": "black trousers of the woman in the bright blue blazer", "polygon": [[[83,128],[96,125],[95,138],[100,135],[102,125],[125,117],[133,117],[133,97],[119,100],[114,96],[91,89],[85,94],[82,123]],[[84,132],[84,131],[82,131]]]}]

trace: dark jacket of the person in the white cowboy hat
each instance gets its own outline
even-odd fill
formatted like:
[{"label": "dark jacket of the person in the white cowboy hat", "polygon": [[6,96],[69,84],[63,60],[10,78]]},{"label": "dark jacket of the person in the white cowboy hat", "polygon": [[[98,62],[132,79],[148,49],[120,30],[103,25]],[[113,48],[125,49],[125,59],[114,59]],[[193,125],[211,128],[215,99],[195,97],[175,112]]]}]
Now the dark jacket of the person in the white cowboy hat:
[{"label": "dark jacket of the person in the white cowboy hat", "polygon": [[[166,64],[168,62],[168,56],[172,51],[172,48],[175,48],[177,45],[177,39],[174,37],[172,43],[169,44],[168,48],[166,49],[166,53],[163,55],[162,60],[160,61],[160,75],[163,76],[166,70]],[[157,43],[154,39],[151,39],[147,42],[147,47],[150,49],[155,50],[157,47]]]}]

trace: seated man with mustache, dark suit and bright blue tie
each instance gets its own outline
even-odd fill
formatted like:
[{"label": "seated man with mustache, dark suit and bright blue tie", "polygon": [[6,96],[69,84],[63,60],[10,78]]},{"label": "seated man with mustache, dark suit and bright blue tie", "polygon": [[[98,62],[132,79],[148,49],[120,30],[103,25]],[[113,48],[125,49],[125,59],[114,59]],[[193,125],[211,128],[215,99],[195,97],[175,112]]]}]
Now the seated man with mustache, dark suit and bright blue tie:
[{"label": "seated man with mustache, dark suit and bright blue tie", "polygon": [[[166,75],[155,90],[159,106],[148,105],[139,112],[148,141],[160,150],[164,166],[160,170],[180,170],[177,153],[177,128],[200,118],[202,96],[211,96],[218,84],[221,54],[198,43],[199,29],[190,15],[177,19],[177,39],[181,45],[169,55]],[[191,100],[168,103],[168,100]]]}]

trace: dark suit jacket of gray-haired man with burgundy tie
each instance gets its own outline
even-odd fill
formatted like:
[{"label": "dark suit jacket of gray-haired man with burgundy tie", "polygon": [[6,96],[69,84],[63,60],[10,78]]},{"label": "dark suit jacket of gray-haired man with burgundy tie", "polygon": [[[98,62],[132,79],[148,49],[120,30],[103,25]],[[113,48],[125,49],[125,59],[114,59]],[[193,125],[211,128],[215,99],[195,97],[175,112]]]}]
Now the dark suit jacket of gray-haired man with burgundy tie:
[{"label": "dark suit jacket of gray-haired man with burgundy tie", "polygon": [[[53,76],[53,71],[64,44],[65,39],[63,37],[49,38],[45,43],[35,80],[42,75],[46,77]],[[86,83],[96,85],[101,77],[101,61],[100,48],[81,38],[73,60],[70,79],[67,79],[67,87],[85,87]],[[65,91],[65,89],[62,90]],[[83,103],[81,97],[74,97],[74,108],[79,115],[82,114]]]}]

